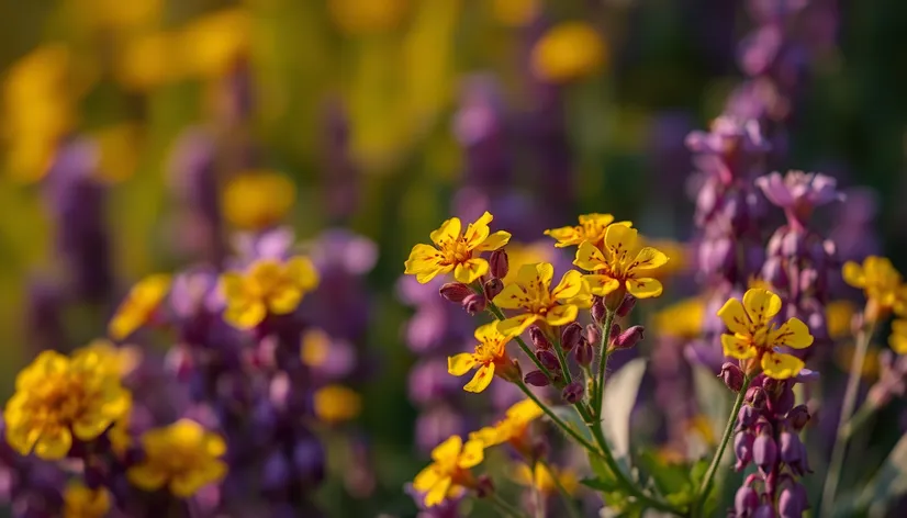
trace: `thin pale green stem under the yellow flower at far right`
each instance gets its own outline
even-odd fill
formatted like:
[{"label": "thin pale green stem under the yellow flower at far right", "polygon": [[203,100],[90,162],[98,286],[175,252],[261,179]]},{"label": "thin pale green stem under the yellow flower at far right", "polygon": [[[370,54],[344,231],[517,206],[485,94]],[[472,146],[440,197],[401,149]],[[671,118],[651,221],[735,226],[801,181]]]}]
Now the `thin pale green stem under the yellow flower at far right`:
[{"label": "thin pale green stem under the yellow flower at far right", "polygon": [[848,421],[853,414],[853,407],[856,405],[856,393],[860,390],[860,374],[863,372],[863,362],[866,360],[866,349],[870,347],[870,340],[875,330],[875,323],[872,322],[860,330],[860,336],[856,338],[856,352],[853,356],[853,361],[850,363],[850,374],[848,376],[848,385],[844,391],[844,401],[841,403],[841,417],[838,420],[838,433],[835,437],[835,447],[831,450],[831,461],[828,464],[828,472],[826,472],[825,484],[822,488],[822,499],[819,510],[829,513],[831,505],[835,503],[835,493],[838,491],[838,482],[841,478],[841,469],[844,464],[844,454],[847,453],[848,439]]}]

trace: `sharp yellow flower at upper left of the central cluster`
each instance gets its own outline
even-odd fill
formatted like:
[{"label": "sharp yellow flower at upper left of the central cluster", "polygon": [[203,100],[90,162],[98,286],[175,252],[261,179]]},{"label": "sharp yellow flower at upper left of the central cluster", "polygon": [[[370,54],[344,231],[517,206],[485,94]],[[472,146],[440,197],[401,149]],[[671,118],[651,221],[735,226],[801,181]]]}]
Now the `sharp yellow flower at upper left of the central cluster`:
[{"label": "sharp yellow flower at upper left of the central cluster", "polygon": [[485,212],[462,232],[459,217],[447,219],[430,235],[434,247],[423,244],[413,247],[405,262],[405,273],[416,275],[423,284],[451,271],[459,282],[469,284],[475,281],[489,271],[489,261],[477,256],[497,250],[511,240],[511,234],[504,230],[490,234],[491,221],[492,215]]}]

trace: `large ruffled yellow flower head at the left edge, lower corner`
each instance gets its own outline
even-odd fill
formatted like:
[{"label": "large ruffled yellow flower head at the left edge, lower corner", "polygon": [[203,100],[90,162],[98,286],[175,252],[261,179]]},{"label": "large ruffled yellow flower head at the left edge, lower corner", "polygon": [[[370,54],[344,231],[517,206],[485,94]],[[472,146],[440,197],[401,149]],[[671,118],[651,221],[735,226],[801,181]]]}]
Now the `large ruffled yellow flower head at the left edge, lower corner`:
[{"label": "large ruffled yellow flower head at the left edge, lower corner", "polygon": [[128,412],[130,393],[97,351],[67,358],[44,351],[15,378],[3,419],[7,442],[19,453],[63,459],[75,435],[89,441]]}]

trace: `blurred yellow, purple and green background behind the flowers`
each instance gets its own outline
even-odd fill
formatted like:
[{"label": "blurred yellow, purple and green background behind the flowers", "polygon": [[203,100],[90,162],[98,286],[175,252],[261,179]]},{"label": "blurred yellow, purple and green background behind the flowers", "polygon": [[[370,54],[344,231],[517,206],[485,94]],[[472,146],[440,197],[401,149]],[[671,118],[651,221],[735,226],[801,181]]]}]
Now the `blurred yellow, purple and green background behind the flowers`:
[{"label": "blurred yellow, purple and green background behind the flowers", "polygon": [[[356,386],[356,427],[374,475],[358,500],[343,497],[343,476],[320,498],[335,516],[413,513],[402,485],[425,457],[408,392],[418,304],[400,284],[410,248],[450,214],[485,207],[523,243],[587,212],[688,239],[684,137],[741,80],[750,3],[0,2],[0,394],[37,349],[103,335],[138,278],[222,257],[212,235],[282,221],[305,240],[345,227],[367,241],[338,261],[367,274],[357,314],[334,318],[365,322],[359,353],[372,369]],[[903,270],[907,4],[807,9],[792,58],[798,95],[771,167],[861,185],[819,226],[865,221],[870,251]],[[48,166],[74,138],[90,149],[69,159],[94,173],[54,182]],[[216,173],[199,180],[204,168]],[[372,252],[373,268],[357,267]],[[109,278],[74,291],[79,264]],[[48,324],[47,308],[72,297]]]}]

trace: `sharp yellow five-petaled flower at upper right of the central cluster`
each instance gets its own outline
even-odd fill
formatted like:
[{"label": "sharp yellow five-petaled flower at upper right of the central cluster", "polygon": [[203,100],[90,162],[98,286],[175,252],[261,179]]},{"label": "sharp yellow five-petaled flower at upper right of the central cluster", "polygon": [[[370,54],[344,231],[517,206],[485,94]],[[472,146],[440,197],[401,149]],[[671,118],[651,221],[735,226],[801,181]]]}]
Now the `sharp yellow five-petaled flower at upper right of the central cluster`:
[{"label": "sharp yellow five-petaled flower at upper right of the central cluster", "polygon": [[643,247],[636,228],[611,225],[605,230],[604,248],[583,241],[573,264],[600,272],[585,275],[593,295],[605,296],[626,290],[637,299],[661,295],[662,286],[653,279],[656,270],[668,262],[668,256],[652,247]]}]

